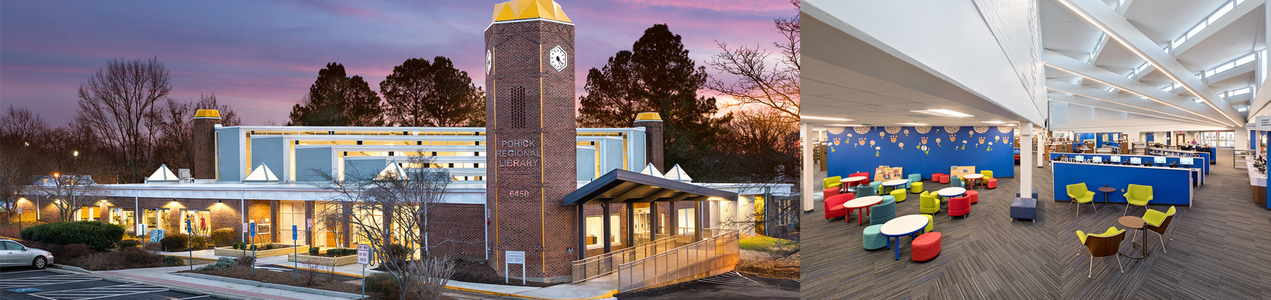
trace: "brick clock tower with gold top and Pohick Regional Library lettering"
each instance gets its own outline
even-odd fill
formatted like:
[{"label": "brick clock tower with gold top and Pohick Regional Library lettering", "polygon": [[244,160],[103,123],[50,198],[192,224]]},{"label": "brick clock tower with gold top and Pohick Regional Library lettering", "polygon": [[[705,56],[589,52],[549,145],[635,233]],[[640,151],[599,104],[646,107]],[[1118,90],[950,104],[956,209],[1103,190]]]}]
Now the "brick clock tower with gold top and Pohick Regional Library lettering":
[{"label": "brick clock tower with gold top and Pohick Regional Library lettering", "polygon": [[[552,0],[494,5],[486,29],[486,202],[491,266],[529,281],[569,280],[577,188],[573,23]],[[511,253],[511,254],[510,254]],[[512,259],[507,259],[512,256]]]}]

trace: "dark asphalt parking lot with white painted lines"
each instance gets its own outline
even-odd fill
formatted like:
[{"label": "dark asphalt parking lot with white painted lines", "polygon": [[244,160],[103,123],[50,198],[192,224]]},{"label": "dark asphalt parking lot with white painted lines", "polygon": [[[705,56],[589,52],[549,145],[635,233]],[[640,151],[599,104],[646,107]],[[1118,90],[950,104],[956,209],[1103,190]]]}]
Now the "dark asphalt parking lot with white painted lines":
[{"label": "dark asphalt parking lot with white painted lines", "polygon": [[177,300],[211,297],[178,292],[160,286],[107,281],[88,275],[67,275],[47,269],[5,268],[0,269],[0,299]]}]

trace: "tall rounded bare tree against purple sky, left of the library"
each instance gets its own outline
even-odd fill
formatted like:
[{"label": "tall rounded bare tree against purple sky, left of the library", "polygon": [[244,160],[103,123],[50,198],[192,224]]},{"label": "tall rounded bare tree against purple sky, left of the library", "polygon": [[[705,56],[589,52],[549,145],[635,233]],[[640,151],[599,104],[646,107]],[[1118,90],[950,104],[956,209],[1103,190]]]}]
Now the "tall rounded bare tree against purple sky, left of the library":
[{"label": "tall rounded bare tree against purple sky, left of the library", "polygon": [[79,122],[117,151],[121,182],[141,182],[153,163],[158,102],[172,90],[159,58],[111,60],[79,88]]}]

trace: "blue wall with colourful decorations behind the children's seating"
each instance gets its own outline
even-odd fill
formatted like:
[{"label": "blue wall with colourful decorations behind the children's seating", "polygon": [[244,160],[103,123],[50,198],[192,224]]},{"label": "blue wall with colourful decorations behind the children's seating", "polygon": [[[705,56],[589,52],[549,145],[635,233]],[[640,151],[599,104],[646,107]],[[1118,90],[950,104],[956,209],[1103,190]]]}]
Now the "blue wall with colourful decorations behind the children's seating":
[{"label": "blue wall with colourful decorations behind the children's seating", "polygon": [[[975,165],[976,172],[993,170],[994,177],[1016,175],[1013,127],[1004,127],[1005,132],[998,126],[984,126],[988,128],[984,132],[976,132],[971,126],[949,128],[955,127],[952,140],[943,126],[932,126],[927,133],[919,133],[918,127],[910,126],[890,127],[896,133],[890,133],[888,127],[846,127],[841,131],[831,127],[827,132],[827,174],[845,177],[866,172],[873,178],[874,168],[888,165],[905,168],[906,175],[916,173],[930,178],[933,173],[947,174],[953,165]],[[859,133],[858,128],[868,131]]]}]

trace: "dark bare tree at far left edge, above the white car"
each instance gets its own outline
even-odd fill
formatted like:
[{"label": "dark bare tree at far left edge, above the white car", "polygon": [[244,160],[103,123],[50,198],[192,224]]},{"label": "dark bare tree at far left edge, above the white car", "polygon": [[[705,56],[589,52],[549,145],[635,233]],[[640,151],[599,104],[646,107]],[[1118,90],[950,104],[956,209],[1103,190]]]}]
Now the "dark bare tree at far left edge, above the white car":
[{"label": "dark bare tree at far left edge, above the white car", "polygon": [[15,220],[18,200],[31,192],[32,177],[43,174],[43,151],[48,125],[39,114],[13,106],[0,114],[0,208],[5,220]]}]

